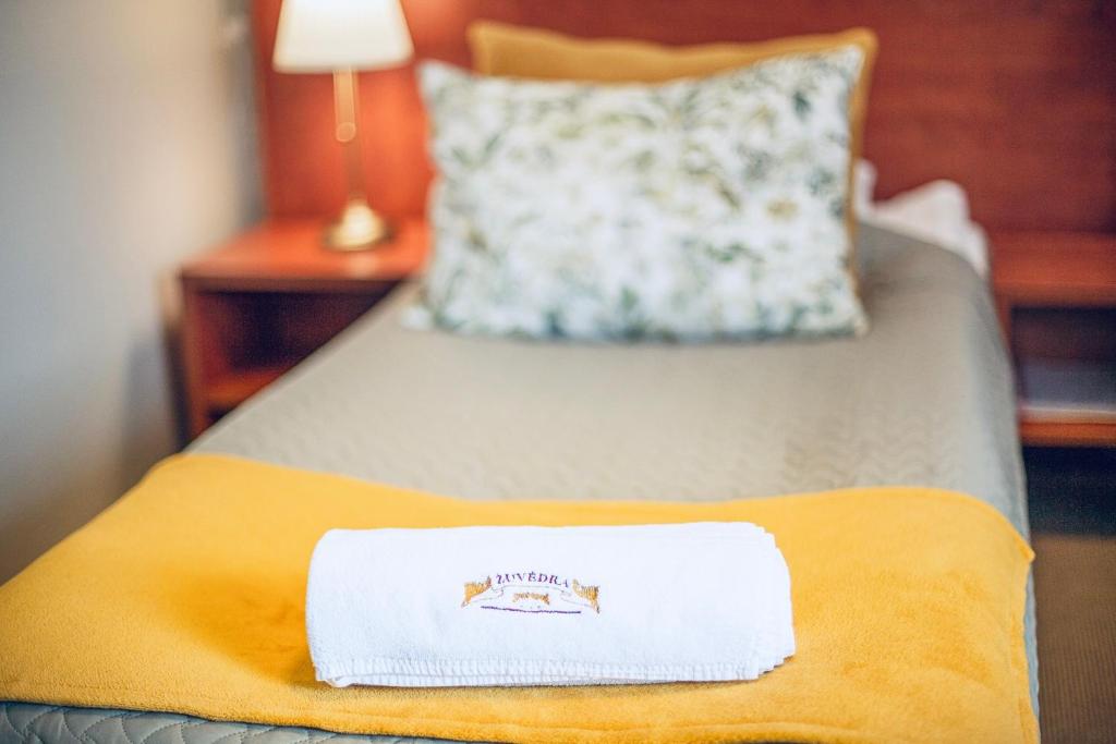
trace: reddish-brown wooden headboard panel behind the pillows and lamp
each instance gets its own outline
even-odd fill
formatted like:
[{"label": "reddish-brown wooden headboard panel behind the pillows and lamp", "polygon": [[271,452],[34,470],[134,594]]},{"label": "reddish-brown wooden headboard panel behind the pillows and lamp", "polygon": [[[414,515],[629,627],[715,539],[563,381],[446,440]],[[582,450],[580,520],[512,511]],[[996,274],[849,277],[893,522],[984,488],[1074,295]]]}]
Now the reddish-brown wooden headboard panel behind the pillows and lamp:
[{"label": "reddish-brown wooden headboard panel behind the pillows and lamp", "polygon": [[[469,64],[477,18],[666,44],[867,26],[881,52],[866,155],[888,196],[933,178],[992,229],[1116,230],[1116,2],[1107,0],[404,0],[419,58]],[[271,69],[279,0],[256,0],[264,182],[278,216],[343,202],[331,81]],[[423,212],[431,171],[413,68],[362,75],[373,204]]]}]

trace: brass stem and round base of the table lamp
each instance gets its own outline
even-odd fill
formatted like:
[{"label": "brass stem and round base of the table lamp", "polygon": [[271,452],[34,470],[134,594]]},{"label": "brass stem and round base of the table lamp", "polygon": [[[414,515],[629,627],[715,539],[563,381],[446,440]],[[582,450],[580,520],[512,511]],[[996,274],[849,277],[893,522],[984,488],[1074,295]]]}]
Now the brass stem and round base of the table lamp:
[{"label": "brass stem and round base of the table lamp", "polygon": [[357,132],[357,81],[353,68],[334,70],[334,135],[345,151],[345,211],[326,231],[326,243],[338,250],[368,248],[388,236],[383,218],[368,206]]}]

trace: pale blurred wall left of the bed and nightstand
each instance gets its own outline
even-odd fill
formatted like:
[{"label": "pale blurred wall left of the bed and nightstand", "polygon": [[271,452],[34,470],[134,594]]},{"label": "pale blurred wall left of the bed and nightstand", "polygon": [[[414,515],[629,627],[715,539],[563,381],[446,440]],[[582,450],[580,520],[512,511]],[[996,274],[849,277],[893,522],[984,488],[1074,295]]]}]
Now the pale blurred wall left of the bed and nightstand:
[{"label": "pale blurred wall left of the bed and nightstand", "polygon": [[260,212],[247,0],[0,0],[0,581],[177,445],[185,257]]}]

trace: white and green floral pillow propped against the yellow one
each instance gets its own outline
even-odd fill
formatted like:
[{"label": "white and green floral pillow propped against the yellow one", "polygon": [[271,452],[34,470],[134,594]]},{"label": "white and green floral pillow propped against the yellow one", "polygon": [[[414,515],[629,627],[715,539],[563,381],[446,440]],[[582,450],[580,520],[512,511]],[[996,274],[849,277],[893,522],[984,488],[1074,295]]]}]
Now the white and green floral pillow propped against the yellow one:
[{"label": "white and green floral pillow propped against the yellow one", "polygon": [[854,46],[660,85],[427,62],[434,254],[413,325],[579,339],[859,334]]}]

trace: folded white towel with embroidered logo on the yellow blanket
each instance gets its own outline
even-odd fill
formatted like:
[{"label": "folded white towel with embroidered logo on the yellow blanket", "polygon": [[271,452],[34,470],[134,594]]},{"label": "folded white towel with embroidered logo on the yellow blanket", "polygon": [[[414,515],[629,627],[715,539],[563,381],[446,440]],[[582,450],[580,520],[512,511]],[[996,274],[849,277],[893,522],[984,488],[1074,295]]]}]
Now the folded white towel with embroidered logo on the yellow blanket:
[{"label": "folded white towel with embroidered logo on the yellow blanket", "polygon": [[787,563],[740,522],[331,530],[306,622],[337,687],[756,679],[795,653]]}]

